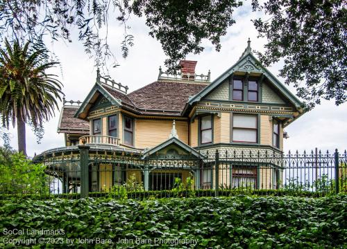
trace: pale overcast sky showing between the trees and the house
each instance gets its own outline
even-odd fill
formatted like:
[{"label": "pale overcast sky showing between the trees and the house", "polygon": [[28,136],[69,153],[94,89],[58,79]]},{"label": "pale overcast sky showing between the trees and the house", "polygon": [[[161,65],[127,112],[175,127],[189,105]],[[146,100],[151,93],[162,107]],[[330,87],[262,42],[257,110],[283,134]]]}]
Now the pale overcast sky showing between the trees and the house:
[{"label": "pale overcast sky showing between the trees and the house", "polygon": [[[189,55],[187,59],[198,61],[196,73],[208,73],[211,70],[211,78],[214,80],[221,73],[226,71],[232,64],[237,62],[244,48],[247,46],[248,37],[251,38],[253,50],[263,50],[266,42],[264,39],[257,39],[251,19],[259,17],[259,13],[251,12],[251,7],[246,5],[235,12],[237,23],[228,28],[228,33],[221,39],[221,51],[216,52],[210,42],[205,42],[205,50],[200,55]],[[130,33],[135,37],[135,45],[130,48],[128,58],[122,59],[119,51],[123,26],[117,24],[109,27],[109,41],[117,61],[120,64],[117,68],[110,69],[110,76],[116,81],[129,86],[130,91],[135,91],[146,84],[154,82],[158,78],[158,68],[163,66],[166,59],[160,43],[149,37],[149,28],[144,24],[144,19],[133,17],[129,21]],[[76,30],[75,30],[76,31]],[[75,35],[77,32],[74,32]],[[75,38],[77,35],[75,36]],[[74,43],[55,43],[53,50],[60,59],[61,69],[57,68],[56,73],[60,81],[64,84],[64,93],[67,100],[84,100],[95,83],[96,68],[93,67],[92,59],[84,53],[81,43],[74,39]],[[278,75],[280,63],[269,68]],[[279,78],[280,79],[280,78]],[[280,79],[283,82],[283,79]],[[293,93],[295,89],[287,86]],[[62,103],[60,103],[60,108]],[[59,112],[56,116],[44,124],[44,138],[41,144],[37,145],[36,138],[31,127],[27,127],[26,147],[29,156],[34,153],[39,154],[46,149],[64,146],[64,137],[57,133]],[[347,149],[347,104],[336,107],[333,101],[323,101],[320,106],[315,107],[309,113],[305,113],[301,118],[289,124],[285,129],[289,133],[289,138],[284,141],[285,151],[302,152],[304,149],[311,151],[318,147],[322,151],[335,148],[342,151]],[[11,145],[17,149],[17,132],[10,129]],[[2,141],[0,142],[0,144]]]}]

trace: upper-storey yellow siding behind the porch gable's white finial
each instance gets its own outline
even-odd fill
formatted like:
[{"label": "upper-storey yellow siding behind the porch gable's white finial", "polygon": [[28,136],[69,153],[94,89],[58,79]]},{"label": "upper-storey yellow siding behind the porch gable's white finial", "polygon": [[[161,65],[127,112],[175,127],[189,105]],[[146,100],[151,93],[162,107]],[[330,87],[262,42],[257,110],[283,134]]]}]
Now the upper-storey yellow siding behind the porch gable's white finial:
[{"label": "upper-storey yellow siding behind the porch gable's white finial", "polygon": [[[172,120],[143,120],[135,121],[135,147],[144,149],[155,147],[169,139],[172,129]],[[185,121],[176,121],[178,138],[188,144],[188,124]]]}]

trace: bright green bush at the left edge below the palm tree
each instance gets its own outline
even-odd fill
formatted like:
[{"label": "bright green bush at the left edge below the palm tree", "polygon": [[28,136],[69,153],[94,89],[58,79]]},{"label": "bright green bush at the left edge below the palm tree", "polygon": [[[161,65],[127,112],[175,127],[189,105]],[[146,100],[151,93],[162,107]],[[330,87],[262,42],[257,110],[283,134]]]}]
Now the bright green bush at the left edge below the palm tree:
[{"label": "bright green bush at the left edge below the palm tree", "polygon": [[10,196],[47,194],[46,167],[33,164],[21,153],[0,148],[0,193]]}]

